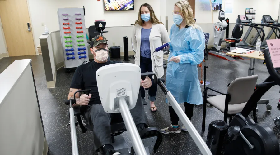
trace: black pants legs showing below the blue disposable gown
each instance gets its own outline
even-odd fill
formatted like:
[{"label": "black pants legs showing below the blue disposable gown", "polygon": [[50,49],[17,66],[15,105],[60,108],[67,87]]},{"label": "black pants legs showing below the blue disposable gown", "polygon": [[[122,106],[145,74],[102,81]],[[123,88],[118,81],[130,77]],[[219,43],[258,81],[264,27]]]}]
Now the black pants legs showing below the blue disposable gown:
[{"label": "black pants legs showing below the blue disposable gown", "polygon": [[[189,118],[189,120],[191,120],[191,118],[193,117],[193,113],[194,113],[194,104],[190,104],[185,102],[185,114],[187,115],[187,117]],[[178,125],[179,123],[179,117],[178,115],[175,113],[174,109],[172,108],[172,106],[169,106],[169,114],[170,114],[170,120],[171,120],[171,124],[172,125]]]}]

